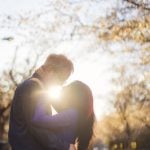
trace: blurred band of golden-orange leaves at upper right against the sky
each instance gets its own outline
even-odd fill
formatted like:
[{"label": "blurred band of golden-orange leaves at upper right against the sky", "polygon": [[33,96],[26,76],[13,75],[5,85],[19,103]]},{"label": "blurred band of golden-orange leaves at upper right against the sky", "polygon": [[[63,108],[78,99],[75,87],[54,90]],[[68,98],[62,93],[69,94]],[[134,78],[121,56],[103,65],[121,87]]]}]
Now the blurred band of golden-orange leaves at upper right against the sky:
[{"label": "blurred band of golden-orange leaves at upper right against the sky", "polygon": [[140,20],[129,20],[115,24],[108,31],[100,33],[99,37],[103,40],[134,40],[136,42],[149,43],[150,16]]}]

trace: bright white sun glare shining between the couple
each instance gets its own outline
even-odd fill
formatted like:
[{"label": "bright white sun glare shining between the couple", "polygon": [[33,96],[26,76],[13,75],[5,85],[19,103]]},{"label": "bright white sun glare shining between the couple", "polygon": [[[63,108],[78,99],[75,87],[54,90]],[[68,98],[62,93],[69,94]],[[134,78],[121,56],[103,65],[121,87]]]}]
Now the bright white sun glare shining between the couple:
[{"label": "bright white sun glare shining between the couple", "polygon": [[62,87],[61,86],[52,86],[48,89],[48,96],[53,100],[59,100],[61,97]]}]

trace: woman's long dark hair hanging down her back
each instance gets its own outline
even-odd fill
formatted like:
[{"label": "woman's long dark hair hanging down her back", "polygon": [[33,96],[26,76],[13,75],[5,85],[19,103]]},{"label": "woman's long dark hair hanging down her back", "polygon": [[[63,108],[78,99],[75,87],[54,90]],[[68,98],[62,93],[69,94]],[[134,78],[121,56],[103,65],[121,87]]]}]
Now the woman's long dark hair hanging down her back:
[{"label": "woman's long dark hair hanging down her back", "polygon": [[74,81],[64,89],[68,107],[79,111],[77,128],[78,150],[87,150],[93,135],[94,111],[90,88],[81,81]]}]

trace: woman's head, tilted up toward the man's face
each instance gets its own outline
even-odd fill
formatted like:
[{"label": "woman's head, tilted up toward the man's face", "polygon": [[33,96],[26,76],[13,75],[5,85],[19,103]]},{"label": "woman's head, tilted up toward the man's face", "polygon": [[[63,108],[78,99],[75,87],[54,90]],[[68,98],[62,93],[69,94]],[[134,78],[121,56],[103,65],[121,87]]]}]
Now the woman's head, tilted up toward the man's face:
[{"label": "woman's head, tilted up toward the man's face", "polygon": [[81,81],[74,81],[63,89],[65,106],[76,108],[89,116],[93,112],[93,96],[90,88]]}]

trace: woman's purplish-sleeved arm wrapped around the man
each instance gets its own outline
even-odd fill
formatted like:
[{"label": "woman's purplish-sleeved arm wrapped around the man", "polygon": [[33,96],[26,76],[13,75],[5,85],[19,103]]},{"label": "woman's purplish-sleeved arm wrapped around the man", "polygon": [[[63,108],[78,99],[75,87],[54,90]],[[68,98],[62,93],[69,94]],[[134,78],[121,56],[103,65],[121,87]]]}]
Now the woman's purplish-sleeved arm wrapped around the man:
[{"label": "woman's purplish-sleeved arm wrapped around the man", "polygon": [[67,109],[56,115],[49,115],[45,111],[46,103],[37,104],[35,114],[32,117],[32,123],[39,127],[58,129],[67,126],[73,126],[77,123],[78,112],[75,109]]}]

